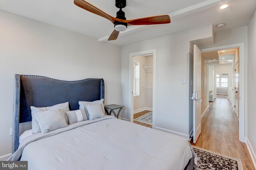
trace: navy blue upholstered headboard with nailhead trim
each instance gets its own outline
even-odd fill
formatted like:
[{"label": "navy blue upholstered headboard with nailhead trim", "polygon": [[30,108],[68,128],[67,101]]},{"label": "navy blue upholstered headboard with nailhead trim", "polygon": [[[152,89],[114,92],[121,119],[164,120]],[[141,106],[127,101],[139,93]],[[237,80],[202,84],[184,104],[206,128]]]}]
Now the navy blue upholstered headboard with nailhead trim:
[{"label": "navy blue upholstered headboard with nailhead trim", "polygon": [[69,102],[70,110],[77,110],[78,101],[92,102],[103,98],[102,78],[64,81],[44,76],[15,74],[12,153],[19,145],[19,123],[32,120],[30,106],[47,107]]}]

